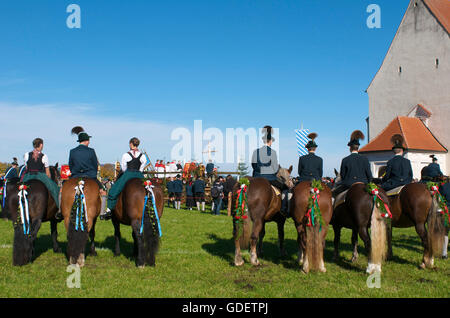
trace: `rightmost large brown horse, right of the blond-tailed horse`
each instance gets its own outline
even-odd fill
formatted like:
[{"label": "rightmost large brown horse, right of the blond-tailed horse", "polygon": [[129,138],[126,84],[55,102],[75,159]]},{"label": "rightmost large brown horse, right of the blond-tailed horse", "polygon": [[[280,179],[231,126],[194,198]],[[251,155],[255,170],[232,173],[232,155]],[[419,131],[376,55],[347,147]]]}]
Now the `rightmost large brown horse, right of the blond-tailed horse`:
[{"label": "rightmost large brown horse, right of the blond-tailed horse", "polygon": [[[423,183],[406,185],[399,194],[389,196],[392,226],[414,226],[424,248],[421,268],[432,268],[434,256],[442,253],[445,236],[444,218],[437,212],[438,203]],[[428,225],[428,230],[425,227]],[[392,228],[388,232],[388,257],[392,258]]]}]

